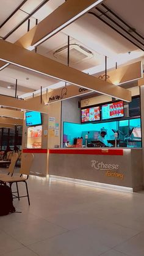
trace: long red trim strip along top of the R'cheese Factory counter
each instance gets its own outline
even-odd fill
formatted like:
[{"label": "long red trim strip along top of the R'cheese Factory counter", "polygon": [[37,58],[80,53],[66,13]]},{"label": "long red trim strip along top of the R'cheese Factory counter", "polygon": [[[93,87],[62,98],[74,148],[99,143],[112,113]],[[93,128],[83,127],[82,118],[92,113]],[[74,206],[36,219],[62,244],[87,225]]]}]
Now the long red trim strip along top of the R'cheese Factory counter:
[{"label": "long red trim strip along top of the R'cheese Factory counter", "polygon": [[123,149],[49,149],[49,154],[123,156]]}]

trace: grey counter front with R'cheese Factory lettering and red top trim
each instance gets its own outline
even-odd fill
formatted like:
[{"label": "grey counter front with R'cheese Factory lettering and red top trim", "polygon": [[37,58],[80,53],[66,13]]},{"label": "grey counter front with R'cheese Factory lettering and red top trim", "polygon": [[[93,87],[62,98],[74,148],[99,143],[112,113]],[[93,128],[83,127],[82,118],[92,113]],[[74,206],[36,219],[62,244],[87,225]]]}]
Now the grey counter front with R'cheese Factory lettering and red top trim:
[{"label": "grey counter front with R'cheese Factory lettering and red top trim", "polygon": [[142,148],[52,148],[50,178],[123,191],[143,189]]}]

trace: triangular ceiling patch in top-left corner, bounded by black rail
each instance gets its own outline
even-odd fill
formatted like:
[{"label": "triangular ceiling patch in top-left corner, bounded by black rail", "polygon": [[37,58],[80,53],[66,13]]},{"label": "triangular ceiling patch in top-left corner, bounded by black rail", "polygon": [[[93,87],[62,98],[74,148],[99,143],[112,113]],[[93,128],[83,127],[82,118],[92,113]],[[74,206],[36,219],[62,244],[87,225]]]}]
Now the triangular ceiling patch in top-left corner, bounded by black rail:
[{"label": "triangular ceiling patch in top-left corner, bounded by black rail", "polygon": [[1,0],[0,24],[2,24],[22,2],[23,0]]}]

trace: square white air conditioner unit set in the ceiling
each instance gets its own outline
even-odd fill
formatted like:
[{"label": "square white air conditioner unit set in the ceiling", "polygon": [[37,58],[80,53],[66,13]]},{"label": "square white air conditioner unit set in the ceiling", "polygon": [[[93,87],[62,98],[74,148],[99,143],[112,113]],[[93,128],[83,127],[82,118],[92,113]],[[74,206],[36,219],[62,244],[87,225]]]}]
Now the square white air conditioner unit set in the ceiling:
[{"label": "square white air conditioner unit set in the ceiling", "polygon": [[[65,45],[53,53],[56,59],[67,63],[68,59],[68,45]],[[78,64],[93,57],[92,51],[88,50],[82,45],[77,43],[70,43],[70,65]]]}]

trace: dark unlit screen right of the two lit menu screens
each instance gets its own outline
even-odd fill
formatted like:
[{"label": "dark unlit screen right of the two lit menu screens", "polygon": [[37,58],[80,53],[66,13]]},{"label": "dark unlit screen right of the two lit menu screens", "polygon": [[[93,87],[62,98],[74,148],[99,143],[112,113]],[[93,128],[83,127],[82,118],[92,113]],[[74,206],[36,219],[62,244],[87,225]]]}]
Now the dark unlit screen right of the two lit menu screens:
[{"label": "dark unlit screen right of the two lit menu screens", "polygon": [[134,117],[136,115],[140,115],[140,97],[132,98],[129,103],[129,116]]}]

